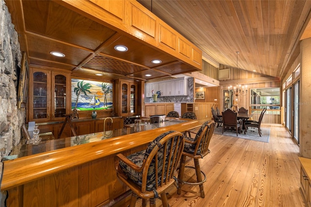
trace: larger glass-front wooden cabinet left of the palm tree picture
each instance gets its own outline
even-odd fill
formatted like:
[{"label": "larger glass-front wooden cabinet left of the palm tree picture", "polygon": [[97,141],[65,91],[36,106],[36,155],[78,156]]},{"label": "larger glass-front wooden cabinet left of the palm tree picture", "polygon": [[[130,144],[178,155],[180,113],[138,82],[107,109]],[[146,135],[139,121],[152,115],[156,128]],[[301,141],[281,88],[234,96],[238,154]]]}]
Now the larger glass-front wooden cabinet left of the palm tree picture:
[{"label": "larger glass-front wooden cabinet left of the palm tree picture", "polygon": [[69,73],[30,68],[29,121],[64,120],[69,114]]}]

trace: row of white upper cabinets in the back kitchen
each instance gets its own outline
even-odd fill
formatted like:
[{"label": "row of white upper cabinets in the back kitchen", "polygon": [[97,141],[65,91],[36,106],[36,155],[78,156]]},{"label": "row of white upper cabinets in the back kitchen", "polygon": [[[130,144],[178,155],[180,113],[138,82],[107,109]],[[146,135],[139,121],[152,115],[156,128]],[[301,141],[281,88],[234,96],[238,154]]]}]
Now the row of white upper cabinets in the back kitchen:
[{"label": "row of white upper cabinets in the back kitchen", "polygon": [[188,79],[176,78],[145,84],[145,97],[152,97],[152,90],[154,93],[160,90],[161,96],[187,96]]}]

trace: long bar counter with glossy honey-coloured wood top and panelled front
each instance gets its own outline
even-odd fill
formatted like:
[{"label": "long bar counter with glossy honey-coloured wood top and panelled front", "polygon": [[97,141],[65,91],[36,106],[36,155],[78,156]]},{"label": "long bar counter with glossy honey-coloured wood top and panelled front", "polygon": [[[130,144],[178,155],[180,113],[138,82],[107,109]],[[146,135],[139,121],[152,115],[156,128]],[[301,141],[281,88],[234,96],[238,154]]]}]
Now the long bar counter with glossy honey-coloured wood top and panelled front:
[{"label": "long bar counter with glossy honey-coloured wood top and panelled front", "polygon": [[[158,135],[183,132],[202,121],[169,119],[165,125],[143,125],[44,141],[20,144],[4,161],[1,191],[8,190],[7,204],[18,206],[98,206],[121,195],[126,187],[117,179],[114,155],[130,155],[146,149]],[[49,196],[46,196],[49,193]]]}]

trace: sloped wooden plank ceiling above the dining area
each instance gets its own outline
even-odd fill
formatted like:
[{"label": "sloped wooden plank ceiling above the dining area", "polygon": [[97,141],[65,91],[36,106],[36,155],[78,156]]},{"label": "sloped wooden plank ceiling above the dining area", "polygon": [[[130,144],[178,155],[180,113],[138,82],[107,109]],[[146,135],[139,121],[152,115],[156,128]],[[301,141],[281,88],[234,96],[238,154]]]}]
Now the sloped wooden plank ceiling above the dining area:
[{"label": "sloped wooden plank ceiling above the dining area", "polygon": [[311,0],[138,0],[214,65],[282,79],[299,53]]}]

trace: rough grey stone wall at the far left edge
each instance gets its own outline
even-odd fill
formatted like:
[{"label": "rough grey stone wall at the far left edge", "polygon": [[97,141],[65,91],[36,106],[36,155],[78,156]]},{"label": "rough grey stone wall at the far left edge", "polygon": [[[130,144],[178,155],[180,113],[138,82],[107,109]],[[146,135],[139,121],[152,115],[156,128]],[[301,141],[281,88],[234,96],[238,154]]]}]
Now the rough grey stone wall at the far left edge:
[{"label": "rough grey stone wall at the far left edge", "polygon": [[[17,67],[20,68],[21,52],[17,32],[4,0],[0,0],[0,158],[9,155],[21,137],[25,123],[25,108],[17,109]],[[3,162],[0,162],[2,178]],[[6,192],[0,194],[3,207]]]}]

